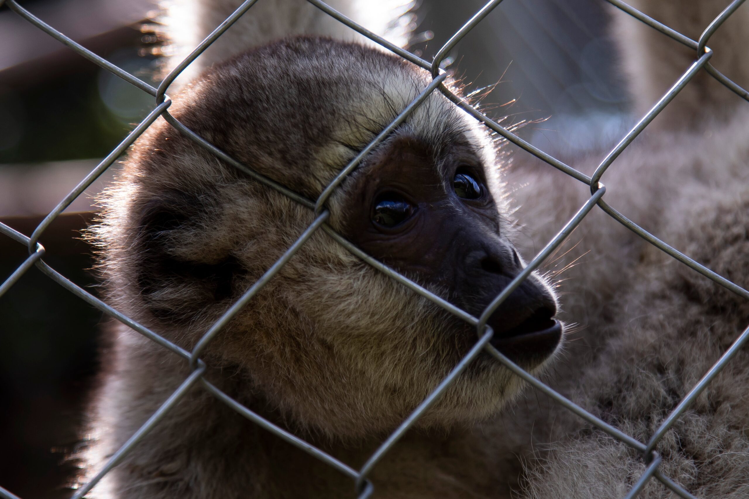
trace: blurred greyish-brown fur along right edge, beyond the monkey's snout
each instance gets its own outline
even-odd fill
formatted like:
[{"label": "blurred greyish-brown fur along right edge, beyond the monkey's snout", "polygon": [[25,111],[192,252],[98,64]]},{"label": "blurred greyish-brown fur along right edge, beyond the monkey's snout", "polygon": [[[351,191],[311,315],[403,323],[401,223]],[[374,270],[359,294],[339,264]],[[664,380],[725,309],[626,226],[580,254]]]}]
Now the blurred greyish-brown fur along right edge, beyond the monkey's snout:
[{"label": "blurred greyish-brown fur along right edge, beyond the monkey's snout", "polygon": [[[630,3],[697,40],[728,2]],[[715,51],[715,66],[745,88],[748,17],[748,7],[740,7],[708,43]],[[614,16],[614,25],[634,105],[644,113],[696,55],[622,13]],[[749,284],[748,130],[749,104],[700,73],[601,180],[608,186],[606,198],[612,206],[745,288]],[[534,190],[544,189],[532,185]],[[592,292],[601,292],[598,299],[604,302],[598,307],[595,299],[590,301],[595,308],[587,313],[588,328],[583,331],[586,344],[599,346],[592,350],[595,358],[580,378],[573,378],[570,385],[576,386],[566,393],[646,442],[749,325],[749,303],[626,230],[612,228],[608,234],[629,248],[626,254],[601,251],[598,231],[616,222],[598,215],[580,227],[579,246],[591,253],[583,257],[579,272],[570,272],[572,281],[581,278],[582,283],[571,282],[568,288],[572,293],[585,289],[582,301],[572,300],[580,307]],[[596,275],[605,282],[596,283]],[[601,344],[595,337],[607,340]],[[749,497],[747,379],[749,356],[744,350],[656,447],[663,458],[661,471],[697,497]],[[552,408],[549,414],[554,425],[545,441],[550,444],[539,450],[551,449],[551,453],[541,453],[537,466],[530,466],[527,496],[626,495],[645,469],[641,456],[561,408]],[[673,495],[653,480],[638,497]]]}]

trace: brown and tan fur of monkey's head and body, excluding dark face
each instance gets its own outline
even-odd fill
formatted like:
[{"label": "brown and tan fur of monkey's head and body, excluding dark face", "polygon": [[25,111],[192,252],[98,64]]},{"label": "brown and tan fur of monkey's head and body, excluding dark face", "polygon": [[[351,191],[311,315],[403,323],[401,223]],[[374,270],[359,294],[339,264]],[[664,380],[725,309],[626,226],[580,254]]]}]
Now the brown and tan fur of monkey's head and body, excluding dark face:
[{"label": "brown and tan fur of monkey's head and body, excluding dark face", "polygon": [[[690,1],[676,13],[694,9],[694,24],[679,26],[670,2],[651,3],[643,10],[693,37],[724,7],[707,2],[703,13]],[[730,20],[722,28],[730,30],[729,42],[721,45],[716,34],[709,43],[724,57],[734,54],[736,64],[741,25]],[[626,29],[633,28],[618,28]],[[646,32],[622,40],[650,43]],[[666,57],[671,48],[652,52]],[[629,68],[637,64],[628,57],[646,53],[631,46],[622,52]],[[633,79],[649,79],[634,89],[658,94],[682,69],[674,64],[658,67],[673,75],[630,70]],[[685,58],[683,68],[688,64]],[[426,82],[420,70],[371,49],[292,39],[208,70],[175,97],[171,111],[240,162],[315,198]],[[655,102],[651,95],[637,90],[637,106]],[[657,133],[635,141],[602,182],[616,209],[745,285],[748,118],[736,97],[736,113],[726,116],[721,102],[731,98],[709,83],[680,97],[672,106],[691,124],[677,111],[659,117]],[[706,117],[713,111],[714,118]],[[438,94],[407,123],[434,148],[454,132],[470,138],[495,198],[506,199],[512,189],[520,207],[514,218],[512,206],[500,207],[508,220],[503,230],[526,257],[589,197],[586,186],[525,155],[509,171],[500,169],[485,132]],[[559,155],[588,174],[600,159]],[[365,161],[331,198],[333,227],[342,227],[356,197],[347,186],[366,174]],[[188,349],[313,219],[309,209],[237,173],[162,121],[130,152],[105,207],[94,235],[109,302]],[[567,279],[561,300],[565,318],[584,327],[568,337],[547,379],[644,441],[745,327],[747,304],[598,209],[569,245],[575,242],[566,261],[582,255],[582,263],[561,276]],[[165,268],[164,260],[189,266]],[[467,349],[440,337],[446,325],[455,327],[434,305],[317,233],[203,357],[207,378],[231,397],[357,468]],[[94,408],[94,443],[85,453],[91,475],[189,372],[184,360],[126,327],[115,334]],[[525,394],[500,411],[517,397],[518,382],[483,362],[377,465],[377,497],[507,498],[524,486],[533,498],[615,498],[637,480],[643,465],[634,452],[542,396]],[[664,472],[698,495],[749,497],[749,403],[742,385],[748,366],[740,354],[676,425],[679,438],[669,435],[659,447]],[[521,478],[524,461],[529,480]],[[647,493],[667,497],[657,485]],[[92,495],[354,497],[354,486],[195,388]]]}]

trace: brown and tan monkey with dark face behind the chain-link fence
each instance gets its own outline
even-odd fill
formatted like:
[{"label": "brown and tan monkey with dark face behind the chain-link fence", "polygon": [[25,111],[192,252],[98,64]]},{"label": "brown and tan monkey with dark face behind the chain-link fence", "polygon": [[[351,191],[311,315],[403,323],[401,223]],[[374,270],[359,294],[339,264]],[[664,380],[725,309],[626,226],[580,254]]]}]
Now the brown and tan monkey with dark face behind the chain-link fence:
[{"label": "brown and tan monkey with dark face behind the chain-link fence", "polygon": [[[715,16],[707,10],[702,15],[697,2],[688,8],[699,18],[695,26]],[[738,22],[725,27],[732,25],[740,40]],[[738,50],[735,40],[723,45]],[[234,58],[216,55],[215,64],[204,62],[207,69],[175,96],[170,112],[244,165],[310,199],[431,80],[401,58],[357,43],[291,37],[241,52],[247,48],[237,43]],[[671,80],[658,77],[652,76],[654,88],[678,73]],[[738,168],[745,151],[736,126],[742,117],[733,123],[724,123],[725,114],[715,118],[713,126],[733,134],[731,147],[707,140],[699,126],[708,118],[696,111],[709,113],[712,105],[705,108],[700,99],[727,91],[705,85],[672,104],[694,118],[691,129],[684,129],[683,116],[664,114],[653,123],[658,135],[635,141],[602,181],[615,186],[605,195],[612,206],[741,281],[742,266],[735,263],[746,227],[746,184]],[[649,95],[642,94],[646,104]],[[503,166],[506,153],[495,147],[476,120],[432,93],[333,192],[325,223],[443,299],[481,313],[524,268],[524,257],[533,256],[533,248],[551,239],[590,195],[588,186],[564,183],[562,174],[540,162],[526,158]],[[578,163],[583,171],[595,168],[592,157]],[[712,192],[704,185],[708,176],[715,186],[730,186],[733,196]],[[512,189],[523,183],[526,188]],[[136,142],[103,204],[91,239],[100,251],[109,303],[188,350],[315,221],[306,207],[224,164],[163,120]],[[730,312],[735,326],[745,308],[691,270],[664,263],[600,211],[591,212],[579,232],[584,236],[570,257],[584,251],[593,257],[565,271],[574,276],[564,284],[566,294],[560,298],[549,278],[533,273],[489,319],[491,344],[531,373],[548,372],[562,394],[584,407],[600,405],[599,417],[642,437],[725,346],[730,333],[710,337],[710,321]],[[654,303],[661,304],[658,316],[633,329]],[[683,313],[687,305],[689,313]],[[673,327],[667,337],[654,338],[666,317],[682,330]],[[675,342],[685,337],[677,333],[689,327],[687,317],[705,322],[691,332],[692,356],[683,356],[691,364],[680,373],[664,359],[679,350]],[[570,331],[565,322],[586,328]],[[204,376],[230,397],[357,468],[477,338],[475,328],[317,231],[201,358]],[[711,348],[697,348],[699,340],[712,341]],[[82,483],[189,374],[184,359],[166,355],[124,325],[115,326],[103,364]],[[638,369],[646,373],[640,385],[633,382]],[[669,379],[682,382],[665,388],[655,383]],[[746,448],[736,429],[744,414],[736,397],[740,379],[724,380],[734,383],[726,403],[739,408],[735,418],[725,418],[719,406],[702,414],[730,435],[731,452]],[[667,397],[632,390],[647,386],[643,380]],[[479,354],[372,470],[375,496],[587,497],[603,491],[596,497],[616,497],[636,480],[628,470],[643,465],[634,453],[521,388],[504,367]],[[625,396],[631,397],[627,403]],[[619,412],[620,402],[645,410]],[[540,457],[539,443],[550,447]],[[584,456],[578,449],[593,457],[565,458]],[[608,461],[593,461],[604,453]],[[697,469],[700,462],[728,459],[699,454],[697,447],[662,455],[666,474],[678,472],[670,476],[685,486],[691,478],[705,491],[715,489],[711,480],[718,478],[688,475],[684,461],[692,459]],[[745,476],[736,463],[721,469],[727,483]],[[349,477],[193,388],[91,495],[352,497],[356,491]]]}]

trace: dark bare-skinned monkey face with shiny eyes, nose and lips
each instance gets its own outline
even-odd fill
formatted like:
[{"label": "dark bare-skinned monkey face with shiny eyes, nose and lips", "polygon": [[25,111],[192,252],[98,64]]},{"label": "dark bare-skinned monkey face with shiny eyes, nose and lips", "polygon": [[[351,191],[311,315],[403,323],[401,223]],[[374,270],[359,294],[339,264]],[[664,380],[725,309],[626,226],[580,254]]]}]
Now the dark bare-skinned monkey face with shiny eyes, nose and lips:
[{"label": "dark bare-skinned monkey face with shiny eyes, nose and lips", "polygon": [[[470,142],[458,139],[437,159],[428,149],[405,133],[373,154],[346,209],[346,232],[368,254],[422,285],[445,290],[449,301],[479,316],[524,264],[501,234],[482,158]],[[491,344],[536,367],[562,339],[556,313],[551,290],[534,275],[489,318]]]}]

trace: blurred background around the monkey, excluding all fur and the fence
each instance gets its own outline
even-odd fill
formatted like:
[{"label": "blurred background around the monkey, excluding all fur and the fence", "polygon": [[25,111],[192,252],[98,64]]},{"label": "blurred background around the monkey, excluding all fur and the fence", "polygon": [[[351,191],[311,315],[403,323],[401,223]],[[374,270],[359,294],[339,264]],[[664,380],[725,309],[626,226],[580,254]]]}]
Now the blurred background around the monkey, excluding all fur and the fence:
[{"label": "blurred background around the monkey, excluding all fur and the fence", "polygon": [[[261,0],[270,1],[270,0]],[[483,5],[423,0],[401,19],[409,49],[431,60]],[[23,6],[124,70],[157,84],[163,40],[149,0],[29,0]],[[246,15],[252,15],[250,10]],[[613,145],[631,124],[606,36],[603,0],[504,0],[449,57],[467,92],[494,86],[482,106],[529,123],[542,150]],[[153,98],[99,69],[0,7],[0,221],[30,234],[153,106]],[[116,165],[111,169],[117,168]],[[90,248],[76,239],[91,219],[104,174],[43,235],[45,260],[96,293]],[[0,281],[27,256],[0,236]],[[26,498],[70,495],[82,414],[97,371],[101,314],[29,270],[0,297],[0,486]]]}]

